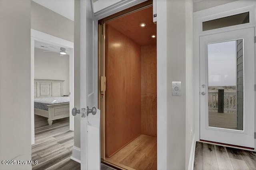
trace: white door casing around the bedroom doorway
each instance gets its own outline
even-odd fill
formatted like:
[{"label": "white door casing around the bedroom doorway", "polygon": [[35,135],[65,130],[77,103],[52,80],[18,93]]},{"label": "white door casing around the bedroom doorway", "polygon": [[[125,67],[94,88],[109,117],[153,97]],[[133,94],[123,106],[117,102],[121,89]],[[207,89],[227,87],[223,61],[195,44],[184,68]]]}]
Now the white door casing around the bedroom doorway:
[{"label": "white door casing around the bedroom doorway", "polygon": [[70,131],[74,131],[74,116],[72,116],[71,110],[74,107],[74,43],[61,39],[47,33],[43,33],[34,29],[31,29],[31,145],[35,143],[35,125],[34,125],[34,48],[35,41],[43,43],[58,45],[71,49],[69,57],[69,90],[70,90]]}]

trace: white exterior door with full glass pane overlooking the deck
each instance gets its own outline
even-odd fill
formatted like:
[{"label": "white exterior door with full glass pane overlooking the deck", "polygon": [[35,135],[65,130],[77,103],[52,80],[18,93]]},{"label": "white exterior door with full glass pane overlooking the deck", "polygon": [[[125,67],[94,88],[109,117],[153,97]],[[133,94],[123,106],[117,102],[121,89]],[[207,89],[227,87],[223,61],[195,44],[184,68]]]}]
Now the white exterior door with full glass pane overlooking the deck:
[{"label": "white exterior door with full glass pane overlooking the deck", "polygon": [[200,37],[200,140],[254,148],[254,27]]}]

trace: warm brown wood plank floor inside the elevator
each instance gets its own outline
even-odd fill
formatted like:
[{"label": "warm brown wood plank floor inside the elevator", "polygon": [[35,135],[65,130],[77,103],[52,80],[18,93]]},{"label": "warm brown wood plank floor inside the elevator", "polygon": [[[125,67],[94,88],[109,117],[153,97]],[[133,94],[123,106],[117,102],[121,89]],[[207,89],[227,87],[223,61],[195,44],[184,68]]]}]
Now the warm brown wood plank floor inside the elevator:
[{"label": "warm brown wood plank floor inside the elevator", "polygon": [[156,170],[156,152],[156,137],[140,135],[106,160],[136,170]]}]

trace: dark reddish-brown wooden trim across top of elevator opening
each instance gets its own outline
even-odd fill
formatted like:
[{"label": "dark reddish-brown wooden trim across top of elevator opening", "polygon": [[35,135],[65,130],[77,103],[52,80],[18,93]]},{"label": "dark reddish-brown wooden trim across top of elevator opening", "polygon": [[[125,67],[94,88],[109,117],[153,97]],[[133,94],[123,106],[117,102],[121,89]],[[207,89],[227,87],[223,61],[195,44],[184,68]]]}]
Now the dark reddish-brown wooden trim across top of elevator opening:
[{"label": "dark reddish-brown wooden trim across top of elevator opening", "polygon": [[[127,8],[125,10],[122,10],[122,11],[116,13],[116,14],[113,14],[111,16],[103,18],[103,19],[99,20],[98,23],[99,24],[100,23],[106,23],[108,21],[111,21],[111,20],[114,20],[116,18],[128,15],[130,13],[142,10],[144,8],[148,8],[148,7],[152,6],[152,5],[153,5],[153,0],[148,0],[148,1],[142,2],[142,3],[138,4],[138,5],[135,5],[135,6],[132,6],[130,8]],[[153,20],[153,16],[152,16],[152,20]]]}]

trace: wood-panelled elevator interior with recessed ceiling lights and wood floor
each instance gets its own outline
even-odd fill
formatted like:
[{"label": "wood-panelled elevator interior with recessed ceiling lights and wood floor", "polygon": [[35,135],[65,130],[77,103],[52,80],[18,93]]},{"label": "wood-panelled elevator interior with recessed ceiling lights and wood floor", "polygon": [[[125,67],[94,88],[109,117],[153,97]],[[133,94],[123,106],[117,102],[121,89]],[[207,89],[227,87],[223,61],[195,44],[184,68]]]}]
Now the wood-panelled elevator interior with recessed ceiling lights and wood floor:
[{"label": "wood-panelled elevator interior with recessed ceiling lights and wood floor", "polygon": [[105,22],[101,155],[103,162],[118,168],[154,170],[157,165],[156,24],[152,15],[149,6]]}]

